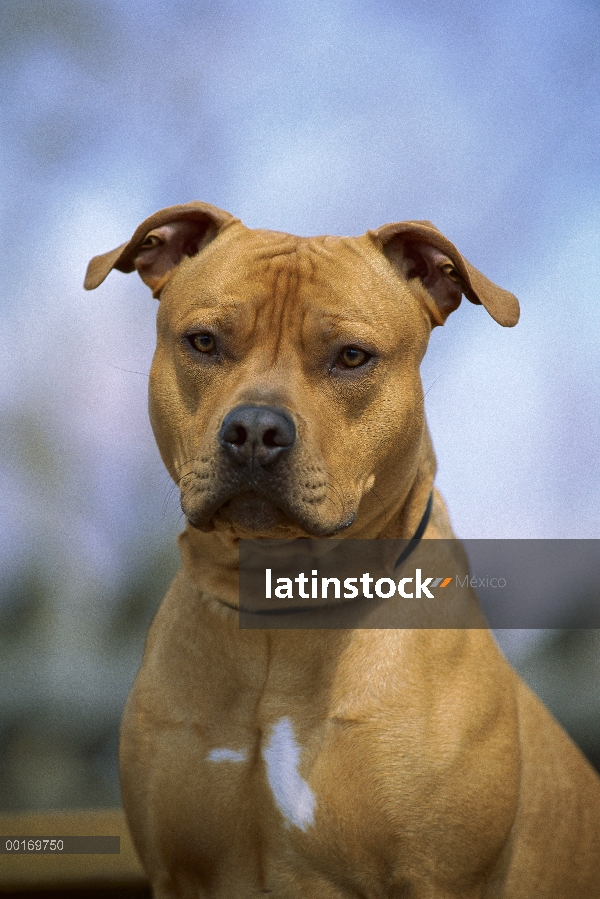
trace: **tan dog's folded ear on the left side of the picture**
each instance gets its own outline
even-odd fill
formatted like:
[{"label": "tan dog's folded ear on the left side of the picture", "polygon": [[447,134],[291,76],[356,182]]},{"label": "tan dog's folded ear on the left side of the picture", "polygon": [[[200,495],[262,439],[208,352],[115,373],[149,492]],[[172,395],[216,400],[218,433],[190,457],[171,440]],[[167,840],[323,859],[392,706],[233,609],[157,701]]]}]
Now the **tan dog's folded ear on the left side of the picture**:
[{"label": "tan dog's folded ear on the left side of the picture", "polygon": [[209,203],[193,202],[161,209],[136,228],[130,241],[110,253],[94,256],[83,286],[93,290],[113,268],[120,272],[137,269],[158,298],[184,256],[195,256],[220,231],[237,221]]}]

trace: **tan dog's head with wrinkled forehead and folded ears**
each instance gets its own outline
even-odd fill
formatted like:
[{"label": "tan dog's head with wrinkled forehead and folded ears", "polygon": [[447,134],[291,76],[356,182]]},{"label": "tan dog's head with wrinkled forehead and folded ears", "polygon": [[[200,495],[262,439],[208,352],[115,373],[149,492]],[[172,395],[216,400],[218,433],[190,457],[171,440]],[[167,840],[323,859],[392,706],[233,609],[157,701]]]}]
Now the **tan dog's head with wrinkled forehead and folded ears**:
[{"label": "tan dog's head with wrinkled forehead and folded ears", "polygon": [[519,316],[430,222],[299,238],[189,203],[92,259],[86,288],[112,268],[160,299],[150,416],[183,511],[235,536],[381,533],[433,481],[432,327],[463,294],[501,325]]}]

